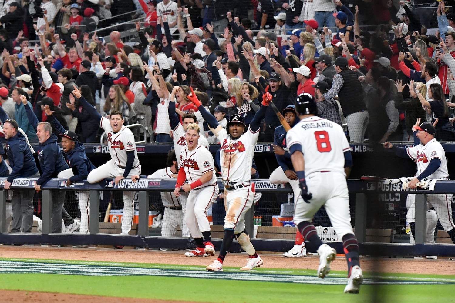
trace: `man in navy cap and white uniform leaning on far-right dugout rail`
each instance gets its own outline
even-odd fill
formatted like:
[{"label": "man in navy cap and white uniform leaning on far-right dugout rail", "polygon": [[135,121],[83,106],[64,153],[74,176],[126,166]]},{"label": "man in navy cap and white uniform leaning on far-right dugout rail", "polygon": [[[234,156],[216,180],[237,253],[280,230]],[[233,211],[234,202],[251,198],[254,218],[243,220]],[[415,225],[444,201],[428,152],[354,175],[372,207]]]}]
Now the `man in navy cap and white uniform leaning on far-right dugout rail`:
[{"label": "man in navy cap and white uniform leaning on far-right dugout rail", "polygon": [[[411,158],[417,161],[417,178],[411,180],[408,185],[415,189],[418,182],[422,179],[448,180],[449,172],[447,170],[447,160],[442,145],[436,141],[436,129],[433,124],[424,122],[420,126],[414,125],[417,130],[417,138],[420,144],[403,148],[398,147],[390,142],[384,143],[384,148],[392,149],[396,155],[401,158]],[[433,206],[438,215],[439,222],[444,230],[449,234],[452,242],[455,243],[455,224],[452,219],[452,194],[427,194],[427,211]],[[410,223],[411,233],[415,235],[415,204],[410,205],[406,218]]]}]

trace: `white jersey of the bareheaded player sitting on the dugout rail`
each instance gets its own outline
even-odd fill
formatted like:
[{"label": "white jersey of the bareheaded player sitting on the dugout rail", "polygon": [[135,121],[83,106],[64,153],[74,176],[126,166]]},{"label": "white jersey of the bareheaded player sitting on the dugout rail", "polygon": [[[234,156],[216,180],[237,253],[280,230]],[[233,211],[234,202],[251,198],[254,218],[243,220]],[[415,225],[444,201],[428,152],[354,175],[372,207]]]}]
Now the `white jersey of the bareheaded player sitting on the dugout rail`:
[{"label": "white jersey of the bareheaded player sitting on the dugout rail", "polygon": [[106,131],[107,144],[109,145],[109,153],[111,159],[117,166],[126,166],[126,152],[134,150],[134,162],[133,167],[139,166],[139,159],[137,158],[136,143],[134,141],[134,135],[130,129],[125,125],[122,125],[119,132],[114,133],[112,130],[109,119],[104,117],[101,118],[101,128]]}]

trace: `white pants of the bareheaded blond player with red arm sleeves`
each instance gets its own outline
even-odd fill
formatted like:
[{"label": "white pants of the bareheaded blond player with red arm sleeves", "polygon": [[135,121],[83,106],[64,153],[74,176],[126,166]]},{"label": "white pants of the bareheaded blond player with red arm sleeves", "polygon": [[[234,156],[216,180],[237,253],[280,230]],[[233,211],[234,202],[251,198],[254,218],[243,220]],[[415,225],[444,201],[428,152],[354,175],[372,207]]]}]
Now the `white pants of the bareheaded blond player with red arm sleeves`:
[{"label": "white pants of the bareheaded blond player with red arm sleeves", "polygon": [[210,230],[207,209],[217,200],[218,192],[218,185],[190,191],[184,219],[193,238],[202,238],[202,232]]}]

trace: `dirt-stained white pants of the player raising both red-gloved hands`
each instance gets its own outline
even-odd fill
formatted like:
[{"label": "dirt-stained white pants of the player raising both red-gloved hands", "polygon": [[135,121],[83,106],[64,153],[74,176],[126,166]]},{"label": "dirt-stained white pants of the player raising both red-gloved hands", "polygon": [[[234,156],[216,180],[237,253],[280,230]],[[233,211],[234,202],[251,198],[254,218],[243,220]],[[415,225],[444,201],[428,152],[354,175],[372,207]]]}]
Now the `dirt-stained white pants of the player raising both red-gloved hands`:
[{"label": "dirt-stained white pants of the player raising both red-gloved hands", "polygon": [[251,185],[234,190],[224,189],[224,228],[233,228],[234,233],[245,230],[245,214],[253,205],[254,193]]}]

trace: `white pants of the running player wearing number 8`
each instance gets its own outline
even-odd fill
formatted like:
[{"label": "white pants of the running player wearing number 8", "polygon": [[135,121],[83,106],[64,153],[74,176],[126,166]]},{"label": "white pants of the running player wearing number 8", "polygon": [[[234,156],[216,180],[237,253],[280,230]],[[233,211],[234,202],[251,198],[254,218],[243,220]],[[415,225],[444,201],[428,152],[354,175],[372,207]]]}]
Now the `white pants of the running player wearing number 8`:
[{"label": "white pants of the running player wearing number 8", "polygon": [[348,233],[354,234],[349,212],[348,185],[344,175],[332,171],[315,172],[305,179],[308,193],[313,194],[313,198],[310,203],[306,203],[302,196],[298,196],[294,206],[294,224],[311,222],[314,214],[324,206],[339,238]]}]

